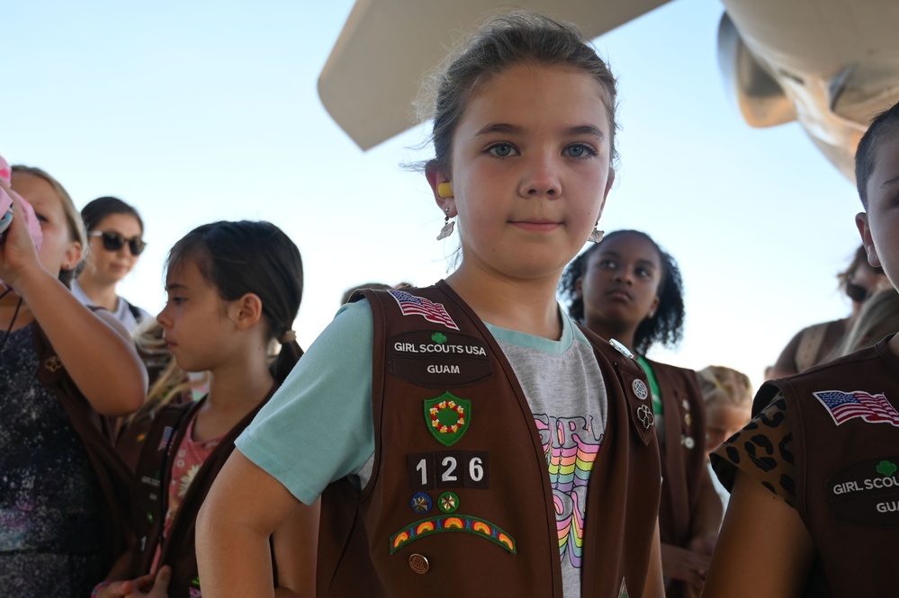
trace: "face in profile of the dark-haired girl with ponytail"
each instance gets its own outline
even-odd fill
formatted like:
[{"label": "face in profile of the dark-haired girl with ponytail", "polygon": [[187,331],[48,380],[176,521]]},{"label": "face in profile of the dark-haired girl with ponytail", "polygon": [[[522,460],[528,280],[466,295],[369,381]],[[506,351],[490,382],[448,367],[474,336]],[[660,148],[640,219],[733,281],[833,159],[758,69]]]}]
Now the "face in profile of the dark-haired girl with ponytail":
[{"label": "face in profile of the dark-haired girl with ponytail", "polygon": [[166,292],[166,307],[156,319],[178,367],[185,371],[215,370],[235,354],[230,302],[221,299],[192,259],[169,268]]}]

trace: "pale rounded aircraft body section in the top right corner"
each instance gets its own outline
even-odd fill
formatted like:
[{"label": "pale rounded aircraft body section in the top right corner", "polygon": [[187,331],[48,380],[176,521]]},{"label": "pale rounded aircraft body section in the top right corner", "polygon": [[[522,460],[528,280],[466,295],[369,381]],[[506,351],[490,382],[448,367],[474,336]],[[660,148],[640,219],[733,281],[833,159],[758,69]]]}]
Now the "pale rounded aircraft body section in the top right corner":
[{"label": "pale rounded aircraft body section in the top right corner", "polygon": [[794,103],[823,154],[854,180],[855,148],[899,100],[899,2],[723,0],[742,43]]}]

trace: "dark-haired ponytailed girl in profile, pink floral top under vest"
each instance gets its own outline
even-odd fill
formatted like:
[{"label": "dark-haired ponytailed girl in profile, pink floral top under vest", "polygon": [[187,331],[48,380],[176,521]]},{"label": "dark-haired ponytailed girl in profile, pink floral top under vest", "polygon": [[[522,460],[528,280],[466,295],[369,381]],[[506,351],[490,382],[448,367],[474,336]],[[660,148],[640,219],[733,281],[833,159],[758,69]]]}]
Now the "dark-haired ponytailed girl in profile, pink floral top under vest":
[{"label": "dark-haired ponytailed girl in profile, pink floral top under vest", "polygon": [[[302,295],[300,252],[271,223],[193,229],[169,254],[166,291],[157,316],[166,345],[182,370],[211,373],[209,395],[154,418],[135,472],[137,546],[96,596],[205,594],[194,557],[196,513],[234,439],[302,354],[292,330]],[[272,340],[282,348],[270,363]],[[269,568],[270,591],[311,595],[312,579],[301,574],[314,564],[315,530],[293,527],[288,515],[270,535],[265,546],[271,541],[278,567],[274,574]]]}]

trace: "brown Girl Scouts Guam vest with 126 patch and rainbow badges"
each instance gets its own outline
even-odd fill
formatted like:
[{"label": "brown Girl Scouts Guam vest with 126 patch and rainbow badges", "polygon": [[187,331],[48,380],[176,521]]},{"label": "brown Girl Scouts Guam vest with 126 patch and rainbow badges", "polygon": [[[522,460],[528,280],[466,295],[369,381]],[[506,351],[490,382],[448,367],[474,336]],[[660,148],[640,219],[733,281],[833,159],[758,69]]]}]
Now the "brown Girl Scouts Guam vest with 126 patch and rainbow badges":
[{"label": "brown Girl Scouts Guam vest with 126 patch and rainbow badges", "polygon": [[[322,495],[319,597],[561,598],[547,459],[511,366],[445,282],[407,291],[364,291],[373,472],[361,493],[343,478]],[[589,479],[582,595],[640,596],[660,493],[652,406],[636,362],[585,334],[608,419]]]}]

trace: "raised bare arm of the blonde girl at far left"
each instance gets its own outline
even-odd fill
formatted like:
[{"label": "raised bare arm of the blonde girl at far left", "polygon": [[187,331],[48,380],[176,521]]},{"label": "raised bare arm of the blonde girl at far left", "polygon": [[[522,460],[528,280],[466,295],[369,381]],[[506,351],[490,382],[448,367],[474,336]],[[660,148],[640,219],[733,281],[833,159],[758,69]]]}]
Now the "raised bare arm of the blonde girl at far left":
[{"label": "raised bare arm of the blonde girl at far left", "polygon": [[13,223],[0,244],[0,278],[28,305],[94,409],[103,415],[137,411],[147,393],[147,371],[127,331],[123,337],[123,328],[103,323],[40,264],[19,196],[7,191]]}]

